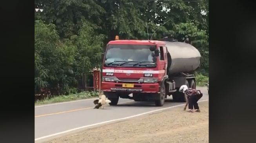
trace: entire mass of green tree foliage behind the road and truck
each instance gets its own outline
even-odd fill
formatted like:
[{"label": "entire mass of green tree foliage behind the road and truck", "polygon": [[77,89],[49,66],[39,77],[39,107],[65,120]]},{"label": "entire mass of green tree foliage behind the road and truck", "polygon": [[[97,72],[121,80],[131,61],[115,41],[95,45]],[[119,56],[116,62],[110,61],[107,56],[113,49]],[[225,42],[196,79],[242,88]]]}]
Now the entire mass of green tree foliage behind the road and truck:
[{"label": "entire mass of green tree foliage behind the road and truck", "polygon": [[167,32],[178,41],[189,38],[202,55],[200,68],[208,71],[208,5],[208,0],[35,0],[35,7],[44,9],[35,13],[35,89],[69,93],[82,73],[100,65],[104,45],[116,35],[159,39]]}]

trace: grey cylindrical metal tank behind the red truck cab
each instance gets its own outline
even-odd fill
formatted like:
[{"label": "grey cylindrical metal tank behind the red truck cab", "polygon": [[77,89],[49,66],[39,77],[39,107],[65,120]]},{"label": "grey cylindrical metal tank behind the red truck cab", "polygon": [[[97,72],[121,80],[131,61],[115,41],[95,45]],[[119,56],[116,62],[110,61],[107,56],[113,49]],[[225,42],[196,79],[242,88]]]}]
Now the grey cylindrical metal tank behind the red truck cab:
[{"label": "grey cylindrical metal tank behind the red truck cab", "polygon": [[200,65],[200,52],[192,45],[183,42],[164,41],[167,47],[169,75],[189,73]]}]

